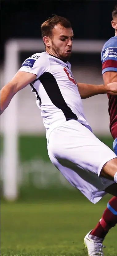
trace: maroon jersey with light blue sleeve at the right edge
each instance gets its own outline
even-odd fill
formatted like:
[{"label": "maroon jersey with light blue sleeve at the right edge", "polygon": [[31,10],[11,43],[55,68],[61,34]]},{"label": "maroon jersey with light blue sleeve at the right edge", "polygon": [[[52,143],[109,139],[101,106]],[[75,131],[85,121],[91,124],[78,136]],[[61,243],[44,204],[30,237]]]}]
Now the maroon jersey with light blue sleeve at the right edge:
[{"label": "maroon jersey with light blue sleeve at the right edge", "polygon": [[[101,52],[102,74],[107,71],[117,72],[117,36],[111,37],[103,46]],[[117,138],[117,96],[108,94],[110,115],[110,132]]]}]

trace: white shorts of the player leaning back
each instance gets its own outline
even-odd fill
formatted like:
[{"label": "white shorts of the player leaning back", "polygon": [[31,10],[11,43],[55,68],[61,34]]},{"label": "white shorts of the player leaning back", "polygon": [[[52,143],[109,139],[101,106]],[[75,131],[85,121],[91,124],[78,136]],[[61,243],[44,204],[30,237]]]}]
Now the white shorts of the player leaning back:
[{"label": "white shorts of the player leaning back", "polygon": [[92,203],[97,203],[106,194],[103,190],[114,183],[99,175],[115,153],[78,121],[69,120],[55,128],[47,149],[51,162]]}]

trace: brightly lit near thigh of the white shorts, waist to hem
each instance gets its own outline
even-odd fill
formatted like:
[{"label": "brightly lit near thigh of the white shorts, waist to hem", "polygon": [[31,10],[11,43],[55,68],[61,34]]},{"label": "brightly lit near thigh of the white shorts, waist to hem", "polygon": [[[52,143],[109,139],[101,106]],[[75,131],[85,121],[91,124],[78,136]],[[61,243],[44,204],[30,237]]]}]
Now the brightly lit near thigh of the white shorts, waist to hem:
[{"label": "brightly lit near thigh of the white shorts, waist to hem", "polygon": [[67,160],[65,163],[74,163],[78,168],[91,171],[98,176],[103,165],[116,157],[110,148],[75,120],[68,121],[51,132],[49,151],[58,161]]}]

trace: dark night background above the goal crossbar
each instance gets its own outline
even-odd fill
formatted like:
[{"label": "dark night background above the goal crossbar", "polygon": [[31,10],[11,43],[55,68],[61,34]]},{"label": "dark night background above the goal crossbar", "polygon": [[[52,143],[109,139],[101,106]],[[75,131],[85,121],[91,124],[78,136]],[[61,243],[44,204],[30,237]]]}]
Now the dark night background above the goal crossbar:
[{"label": "dark night background above the goal crossbar", "polygon": [[111,13],[117,1],[1,1],[1,62],[9,38],[40,38],[41,24],[52,14],[70,19],[75,38],[114,36]]}]

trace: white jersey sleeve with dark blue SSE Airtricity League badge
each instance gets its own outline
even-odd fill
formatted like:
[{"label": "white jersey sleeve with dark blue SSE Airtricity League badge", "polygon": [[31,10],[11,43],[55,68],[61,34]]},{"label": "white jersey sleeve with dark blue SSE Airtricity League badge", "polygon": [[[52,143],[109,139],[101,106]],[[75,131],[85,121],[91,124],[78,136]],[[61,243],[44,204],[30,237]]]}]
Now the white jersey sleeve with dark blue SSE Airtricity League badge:
[{"label": "white jersey sleeve with dark blue SSE Airtricity League badge", "polygon": [[25,71],[37,76],[37,79],[48,69],[48,59],[45,56],[32,55],[22,63],[19,71]]}]

